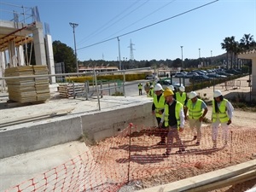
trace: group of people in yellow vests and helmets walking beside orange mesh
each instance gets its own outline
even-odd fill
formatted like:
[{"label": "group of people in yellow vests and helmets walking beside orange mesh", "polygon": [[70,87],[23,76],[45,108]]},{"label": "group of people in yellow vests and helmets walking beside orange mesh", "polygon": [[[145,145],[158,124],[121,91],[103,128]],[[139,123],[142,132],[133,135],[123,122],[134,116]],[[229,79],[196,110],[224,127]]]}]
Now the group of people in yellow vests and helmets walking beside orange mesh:
[{"label": "group of people in yellow vests and helmets walking beside orange mesh", "polygon": [[[195,145],[201,144],[201,125],[208,112],[207,104],[198,98],[195,91],[188,94],[185,87],[180,86],[175,92],[171,86],[163,90],[161,84],[154,85],[154,99],[152,113],[155,115],[160,128],[159,145],[166,145],[166,153],[171,154],[173,139],[179,146],[177,153],[185,152],[185,146],[179,132],[183,132],[186,120],[189,120],[189,128],[193,132]],[[214,90],[212,100],[212,148],[217,148],[218,125],[223,129],[224,147],[228,144],[228,131],[234,108],[224,99],[220,90]]]}]

